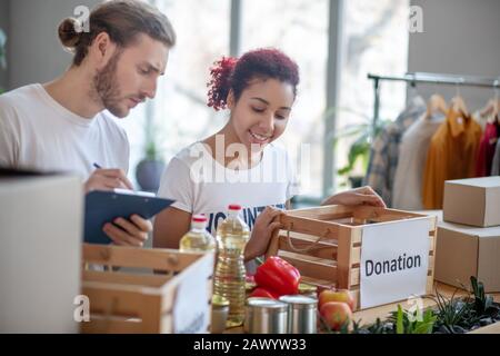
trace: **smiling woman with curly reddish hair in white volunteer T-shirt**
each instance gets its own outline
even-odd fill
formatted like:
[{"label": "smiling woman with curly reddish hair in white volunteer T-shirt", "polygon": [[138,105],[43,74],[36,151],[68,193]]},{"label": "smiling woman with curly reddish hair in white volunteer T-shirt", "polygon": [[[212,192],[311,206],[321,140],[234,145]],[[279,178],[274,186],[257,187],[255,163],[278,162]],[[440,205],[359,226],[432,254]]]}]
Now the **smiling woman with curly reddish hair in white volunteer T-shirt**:
[{"label": "smiling woman with curly reddish hair in white volunteer T-shirt", "polygon": [[[204,214],[214,235],[228,205],[239,204],[251,229],[246,261],[266,253],[272,231],[280,227],[273,219],[298,194],[287,152],[273,144],[284,132],[298,85],[298,66],[276,49],[216,62],[208,105],[229,109],[230,119],[219,132],[181,150],[167,167],[159,196],[177,201],[156,218],[154,247],[178,248],[193,214]],[[369,187],[334,195],[323,204],[384,207]]]}]

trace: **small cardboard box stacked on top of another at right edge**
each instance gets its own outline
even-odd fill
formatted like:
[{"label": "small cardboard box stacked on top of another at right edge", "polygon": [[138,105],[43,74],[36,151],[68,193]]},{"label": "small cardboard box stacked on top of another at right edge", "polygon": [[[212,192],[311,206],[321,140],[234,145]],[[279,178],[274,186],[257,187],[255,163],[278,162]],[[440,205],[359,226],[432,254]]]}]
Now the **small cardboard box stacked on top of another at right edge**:
[{"label": "small cardboard box stacked on top of another at right edge", "polygon": [[479,227],[500,225],[500,177],[444,182],[444,221]]}]

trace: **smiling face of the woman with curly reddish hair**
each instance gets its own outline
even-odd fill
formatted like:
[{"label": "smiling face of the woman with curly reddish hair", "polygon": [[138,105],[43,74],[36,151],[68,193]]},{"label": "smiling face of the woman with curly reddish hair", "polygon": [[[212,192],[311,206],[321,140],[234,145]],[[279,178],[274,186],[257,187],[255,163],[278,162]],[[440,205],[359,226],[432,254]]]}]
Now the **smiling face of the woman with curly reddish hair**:
[{"label": "smiling face of the woman with curly reddish hair", "polygon": [[293,87],[277,79],[252,80],[237,102],[231,92],[228,107],[240,142],[250,150],[274,141],[287,127],[293,101]]}]

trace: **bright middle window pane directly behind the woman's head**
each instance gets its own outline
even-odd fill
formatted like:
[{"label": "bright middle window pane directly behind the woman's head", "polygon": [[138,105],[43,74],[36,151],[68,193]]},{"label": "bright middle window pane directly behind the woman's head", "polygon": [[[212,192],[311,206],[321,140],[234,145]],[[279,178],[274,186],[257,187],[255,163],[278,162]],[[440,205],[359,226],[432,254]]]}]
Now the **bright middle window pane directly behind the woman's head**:
[{"label": "bright middle window pane directly behind the woman's head", "polygon": [[[299,66],[301,82],[297,102],[287,130],[279,140],[297,165],[309,166],[310,171],[304,177],[299,177],[302,195],[321,196],[328,0],[246,0],[241,21],[242,52],[261,47],[276,47]],[[309,161],[300,157],[302,145],[309,147]]]}]

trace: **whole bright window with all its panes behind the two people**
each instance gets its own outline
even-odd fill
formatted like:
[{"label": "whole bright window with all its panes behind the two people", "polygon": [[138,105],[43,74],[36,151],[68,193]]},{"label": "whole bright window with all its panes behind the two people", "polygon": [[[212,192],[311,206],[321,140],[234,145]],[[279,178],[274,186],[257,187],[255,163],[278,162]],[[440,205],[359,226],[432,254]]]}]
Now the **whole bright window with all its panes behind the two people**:
[{"label": "whole bright window with all its panes behind the two people", "polygon": [[[178,43],[170,53],[164,78],[159,80],[157,98],[136,109],[126,125],[131,140],[131,172],[144,152],[146,119],[153,127],[159,149],[169,160],[181,148],[208,137],[227,122],[227,112],[207,107],[209,68],[229,55],[231,2],[237,0],[150,0],[172,21]],[[368,72],[400,75],[407,70],[409,0],[240,0],[241,12],[233,28],[240,30],[240,52],[277,47],[293,58],[301,73],[299,93],[289,126],[280,138],[298,165],[307,164],[310,174],[302,179],[302,194],[322,196],[323,137],[328,87],[330,4],[343,3],[337,129],[371,120],[372,82]],[[340,1],[340,2],[338,2]],[[342,7],[340,7],[342,8]],[[330,71],[331,72],[331,71]],[[386,98],[386,99],[384,99]],[[387,99],[389,98],[389,99]],[[383,83],[382,118],[394,118],[404,105],[401,83]],[[356,111],[359,113],[352,113]],[[347,162],[352,139],[336,146],[337,168]],[[301,157],[301,145],[309,147],[309,162]],[[333,147],[332,147],[333,150]],[[327,157],[328,159],[328,157]],[[336,169],[337,169],[336,168]],[[362,169],[357,168],[358,172]],[[341,186],[344,177],[338,177]],[[328,187],[334,190],[337,187]],[[333,188],[333,189],[331,189]]]}]

